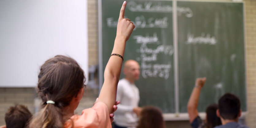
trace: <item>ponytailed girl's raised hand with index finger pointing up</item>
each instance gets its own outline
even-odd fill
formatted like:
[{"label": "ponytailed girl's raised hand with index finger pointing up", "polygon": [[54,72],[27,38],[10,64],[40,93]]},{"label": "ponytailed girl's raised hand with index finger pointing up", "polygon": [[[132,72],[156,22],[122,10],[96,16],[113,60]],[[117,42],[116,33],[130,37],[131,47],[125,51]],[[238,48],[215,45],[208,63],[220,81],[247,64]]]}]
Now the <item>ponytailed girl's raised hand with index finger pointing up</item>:
[{"label": "ponytailed girl's raised hand with index finger pointing up", "polygon": [[124,10],[126,6],[126,1],[124,1],[122,8],[120,10],[120,15],[117,23],[117,37],[127,41],[132,34],[135,25],[130,19],[124,18]]}]

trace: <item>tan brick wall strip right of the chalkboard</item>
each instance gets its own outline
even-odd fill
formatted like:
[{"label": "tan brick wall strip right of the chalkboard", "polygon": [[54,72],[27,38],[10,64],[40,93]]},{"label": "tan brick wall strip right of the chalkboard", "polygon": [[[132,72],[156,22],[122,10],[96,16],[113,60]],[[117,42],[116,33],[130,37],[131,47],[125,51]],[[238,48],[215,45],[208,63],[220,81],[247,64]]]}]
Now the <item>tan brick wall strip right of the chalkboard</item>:
[{"label": "tan brick wall strip right of the chalkboard", "polygon": [[246,124],[256,127],[256,0],[245,0],[247,104]]}]

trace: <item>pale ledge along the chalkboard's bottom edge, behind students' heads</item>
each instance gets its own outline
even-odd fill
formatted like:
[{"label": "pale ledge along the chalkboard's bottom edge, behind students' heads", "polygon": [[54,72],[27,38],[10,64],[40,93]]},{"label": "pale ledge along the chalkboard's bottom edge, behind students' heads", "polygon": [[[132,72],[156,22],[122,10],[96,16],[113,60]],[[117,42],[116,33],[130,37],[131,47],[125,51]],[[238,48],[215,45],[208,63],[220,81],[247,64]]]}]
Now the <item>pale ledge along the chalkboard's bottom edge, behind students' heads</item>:
[{"label": "pale ledge along the chalkboard's bottom edge, behind students' heads", "polygon": [[[246,115],[248,112],[242,112],[242,115],[239,119],[245,119]],[[205,120],[205,112],[200,112],[199,116],[201,117],[201,119]],[[163,114],[163,118],[165,121],[182,121],[182,120],[189,120],[189,114],[188,113],[179,113],[179,114],[175,114],[175,113],[164,113]]]}]

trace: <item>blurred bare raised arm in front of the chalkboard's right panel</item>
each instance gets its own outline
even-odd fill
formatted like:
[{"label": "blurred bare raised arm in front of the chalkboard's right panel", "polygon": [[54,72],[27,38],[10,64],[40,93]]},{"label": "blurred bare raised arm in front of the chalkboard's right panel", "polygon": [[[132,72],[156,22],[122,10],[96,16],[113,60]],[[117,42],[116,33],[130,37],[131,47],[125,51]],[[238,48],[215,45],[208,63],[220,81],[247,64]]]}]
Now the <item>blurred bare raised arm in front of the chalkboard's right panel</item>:
[{"label": "blurred bare raised arm in front of the chalkboard's right panel", "polygon": [[204,86],[205,81],[206,81],[206,77],[196,79],[195,87],[193,88],[193,91],[189,98],[187,110],[189,114],[190,123],[192,123],[193,120],[198,116],[197,106],[198,106],[201,88]]}]

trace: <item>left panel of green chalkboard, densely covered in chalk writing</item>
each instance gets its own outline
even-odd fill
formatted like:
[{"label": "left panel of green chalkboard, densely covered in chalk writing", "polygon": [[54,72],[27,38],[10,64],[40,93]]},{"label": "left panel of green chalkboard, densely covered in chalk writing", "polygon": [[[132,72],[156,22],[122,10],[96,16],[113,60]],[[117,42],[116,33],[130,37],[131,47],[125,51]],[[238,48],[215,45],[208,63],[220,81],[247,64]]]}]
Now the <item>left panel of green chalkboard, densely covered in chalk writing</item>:
[{"label": "left panel of green chalkboard, densely covered in chalk writing", "polygon": [[[112,52],[122,0],[102,0],[102,66]],[[126,18],[136,25],[126,43],[124,61],[140,64],[136,86],[140,106],[155,105],[165,113],[174,113],[174,48],[172,1],[127,0]],[[120,78],[124,75],[121,74]]]}]

